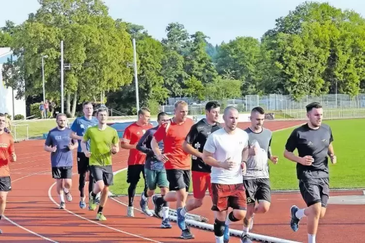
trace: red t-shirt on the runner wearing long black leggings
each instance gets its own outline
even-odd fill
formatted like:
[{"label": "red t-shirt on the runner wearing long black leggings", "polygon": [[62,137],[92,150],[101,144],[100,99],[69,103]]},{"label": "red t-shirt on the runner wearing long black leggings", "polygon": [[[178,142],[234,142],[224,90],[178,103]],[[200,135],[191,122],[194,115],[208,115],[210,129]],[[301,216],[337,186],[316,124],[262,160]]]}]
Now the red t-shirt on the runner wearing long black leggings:
[{"label": "red t-shirt on the runner wearing long black leggings", "polygon": [[[144,126],[138,125],[137,122],[130,124],[124,131],[122,143],[127,143],[131,145],[137,144],[143,134],[152,127],[153,125],[151,123],[148,123]],[[128,156],[128,166],[144,165],[145,159],[145,153],[140,152],[137,149],[131,149]]]}]

